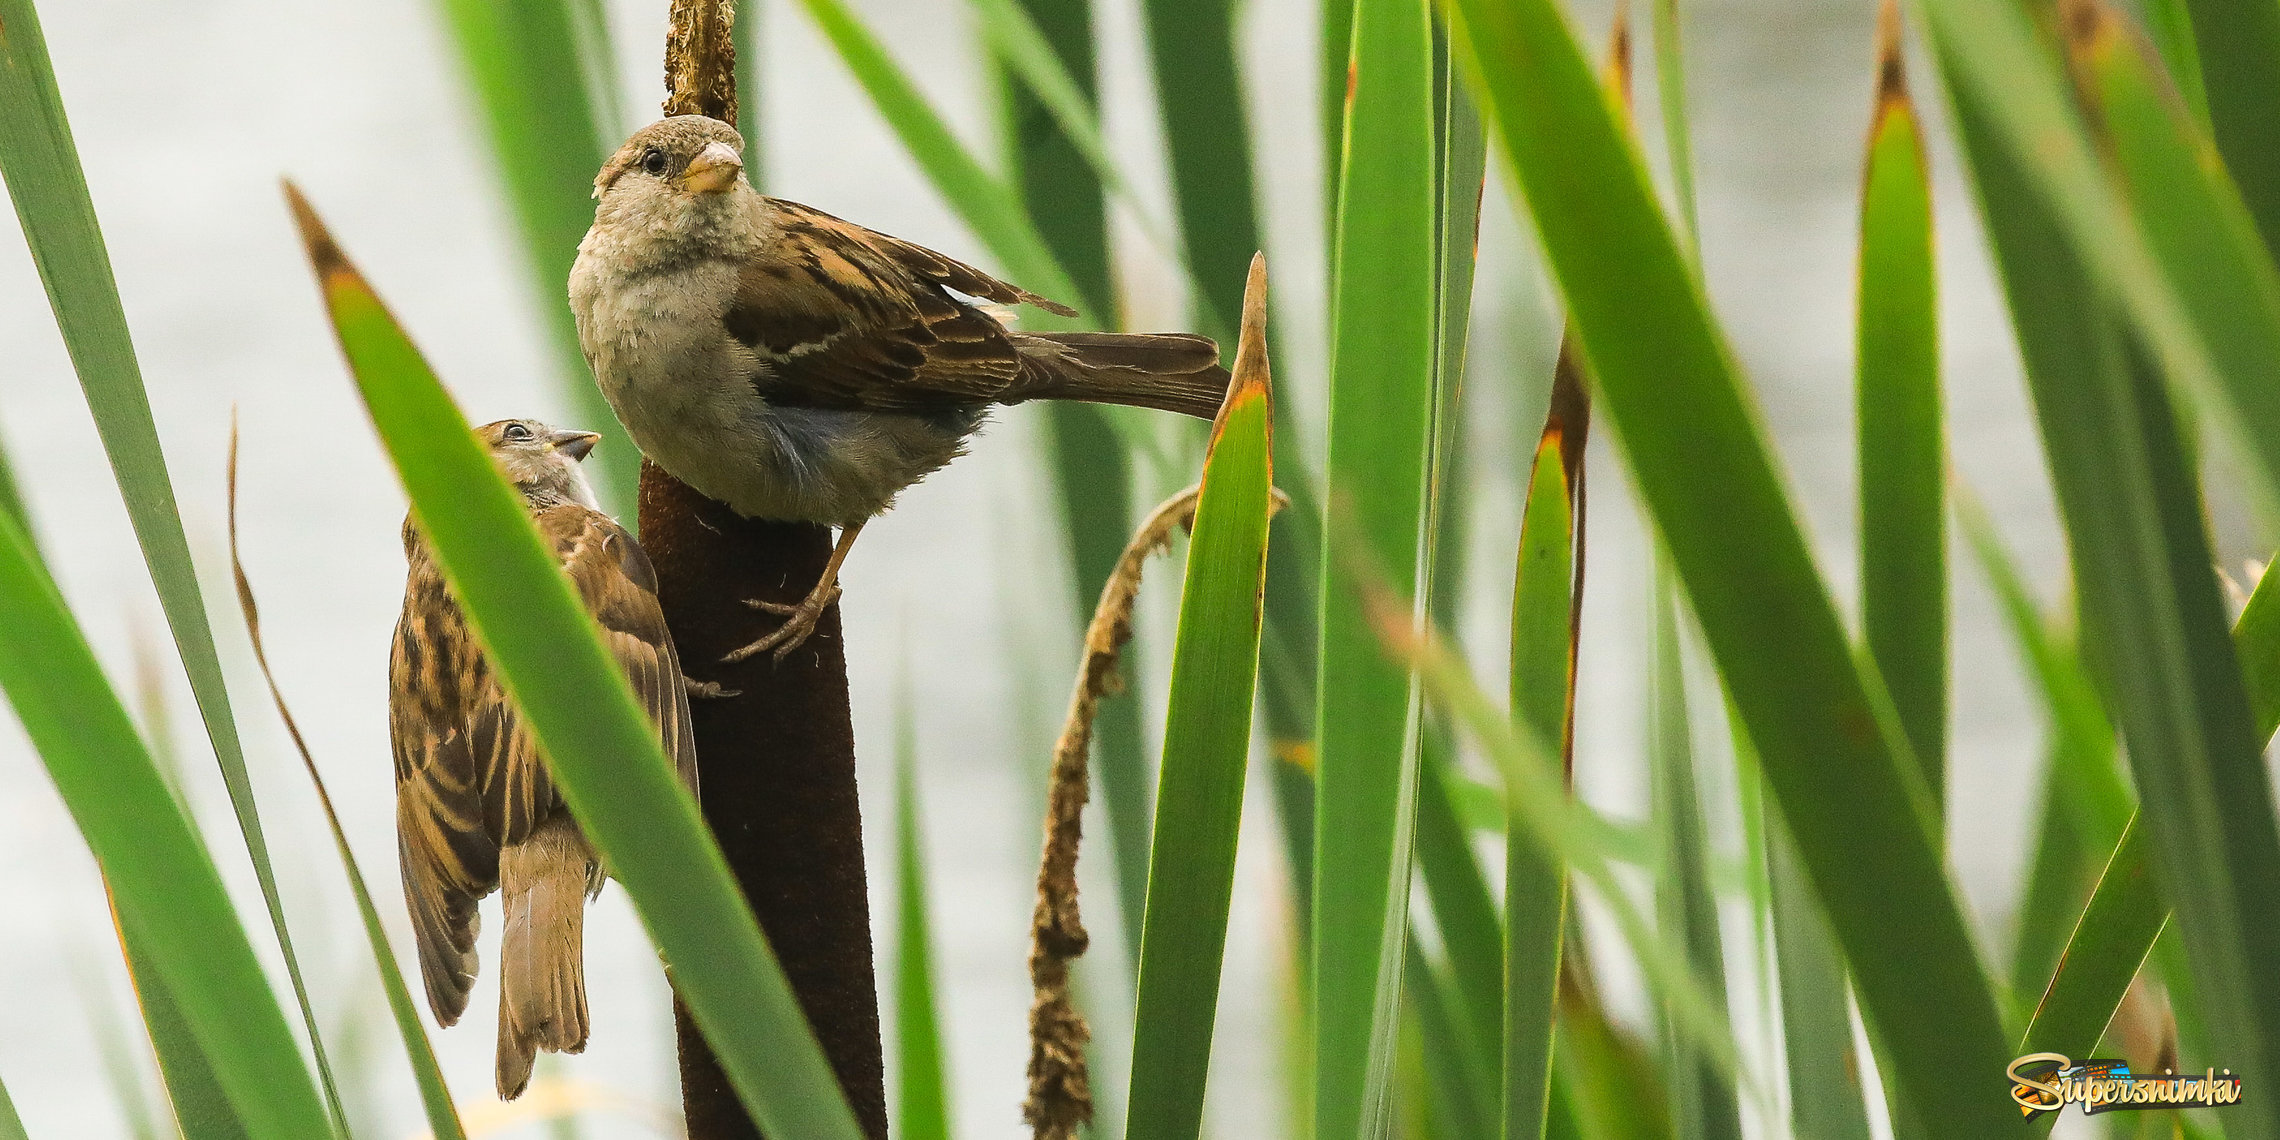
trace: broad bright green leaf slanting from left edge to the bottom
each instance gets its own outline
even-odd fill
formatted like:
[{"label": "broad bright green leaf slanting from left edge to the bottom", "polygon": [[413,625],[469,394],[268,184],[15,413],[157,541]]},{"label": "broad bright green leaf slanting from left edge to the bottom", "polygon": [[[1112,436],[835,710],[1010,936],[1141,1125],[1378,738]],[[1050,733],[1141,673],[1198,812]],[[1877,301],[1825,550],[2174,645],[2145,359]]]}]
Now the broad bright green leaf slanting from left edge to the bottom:
[{"label": "broad bright green leaf slanting from left edge to the bottom", "polygon": [[221,873],[11,515],[0,515],[0,691],[103,864],[121,930],[180,1003],[246,1135],[333,1135]]}]

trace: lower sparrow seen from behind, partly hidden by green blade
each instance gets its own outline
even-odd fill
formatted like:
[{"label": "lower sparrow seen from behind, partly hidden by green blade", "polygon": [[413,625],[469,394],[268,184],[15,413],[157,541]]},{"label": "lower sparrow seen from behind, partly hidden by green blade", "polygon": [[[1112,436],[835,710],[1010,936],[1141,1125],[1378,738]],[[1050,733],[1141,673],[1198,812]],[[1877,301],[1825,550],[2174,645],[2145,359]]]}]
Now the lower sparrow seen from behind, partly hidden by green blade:
[{"label": "lower sparrow seen from behind, partly hidden by green blade", "polygon": [[[695,739],[679,657],[657,609],[657,577],[634,536],[595,511],[577,461],[600,435],[499,420],[477,431],[522,490],[538,534],[577,586],[618,666],[695,787]],[[506,887],[499,942],[499,1097],[531,1081],[540,1049],[586,1049],[586,898],[604,869],[579,832],[538,741],[492,675],[467,618],[410,518],[404,618],[388,659],[397,752],[397,857],[420,942],[429,1008],[456,1024],[474,987],[474,905]]]}]

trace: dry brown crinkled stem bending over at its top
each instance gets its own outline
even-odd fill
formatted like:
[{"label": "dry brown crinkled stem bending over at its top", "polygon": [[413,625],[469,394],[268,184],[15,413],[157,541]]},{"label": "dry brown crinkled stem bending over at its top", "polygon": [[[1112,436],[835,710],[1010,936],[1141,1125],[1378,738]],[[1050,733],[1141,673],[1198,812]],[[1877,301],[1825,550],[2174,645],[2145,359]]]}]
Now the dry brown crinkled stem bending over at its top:
[{"label": "dry brown crinkled stem bending over at its top", "polygon": [[1069,693],[1069,718],[1053,743],[1053,780],[1044,807],[1044,857],[1037,866],[1037,912],[1031,917],[1028,978],[1028,1104],[1021,1115],[1037,1140],[1069,1140],[1092,1119],[1092,1078],[1085,1042],[1092,1031],[1069,1001],[1069,962],[1085,953],[1085,923],[1076,912],[1076,846],[1083,839],[1088,798],[1085,762],[1092,752],[1092,716],[1104,695],[1124,691],[1117,654],[1133,636],[1133,597],[1149,554],[1172,543],[1174,527],[1195,524],[1199,486],[1163,502],[1124,547],[1101,602],[1085,627],[1085,659]]}]

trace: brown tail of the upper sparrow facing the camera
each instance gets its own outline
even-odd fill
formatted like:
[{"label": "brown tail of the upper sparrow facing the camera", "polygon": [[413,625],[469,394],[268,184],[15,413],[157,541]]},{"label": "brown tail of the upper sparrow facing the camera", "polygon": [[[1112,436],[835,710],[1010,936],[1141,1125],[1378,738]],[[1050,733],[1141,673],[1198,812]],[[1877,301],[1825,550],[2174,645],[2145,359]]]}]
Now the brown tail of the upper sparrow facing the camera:
[{"label": "brown tail of the upper sparrow facing the camera", "polygon": [[1211,420],[1227,369],[1211,337],[1188,333],[1019,333],[1019,399],[1085,399]]}]

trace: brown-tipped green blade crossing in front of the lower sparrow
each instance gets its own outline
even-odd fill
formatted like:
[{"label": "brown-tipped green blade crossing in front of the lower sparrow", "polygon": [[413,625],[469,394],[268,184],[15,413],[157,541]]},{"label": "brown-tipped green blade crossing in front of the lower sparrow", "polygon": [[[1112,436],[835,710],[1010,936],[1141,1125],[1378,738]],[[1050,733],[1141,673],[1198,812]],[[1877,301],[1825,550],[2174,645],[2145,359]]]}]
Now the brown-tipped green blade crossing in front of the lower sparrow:
[{"label": "brown-tipped green blade crossing in front of the lower sparrow", "polygon": [[454,595],[554,782],[625,885],[746,1110],[773,1135],[862,1131],[657,730],[593,618],[394,317],[287,187],[358,392]]}]

